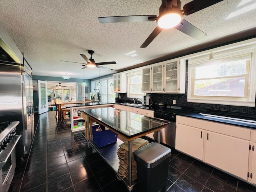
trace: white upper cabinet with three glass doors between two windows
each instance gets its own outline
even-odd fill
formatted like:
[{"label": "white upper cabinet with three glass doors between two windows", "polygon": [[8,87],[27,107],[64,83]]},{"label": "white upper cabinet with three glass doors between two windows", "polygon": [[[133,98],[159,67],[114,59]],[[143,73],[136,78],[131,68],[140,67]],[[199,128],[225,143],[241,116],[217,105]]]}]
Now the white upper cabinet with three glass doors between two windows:
[{"label": "white upper cabinet with three glass doors between two windows", "polygon": [[142,68],[142,92],[185,93],[186,62],[168,60]]}]

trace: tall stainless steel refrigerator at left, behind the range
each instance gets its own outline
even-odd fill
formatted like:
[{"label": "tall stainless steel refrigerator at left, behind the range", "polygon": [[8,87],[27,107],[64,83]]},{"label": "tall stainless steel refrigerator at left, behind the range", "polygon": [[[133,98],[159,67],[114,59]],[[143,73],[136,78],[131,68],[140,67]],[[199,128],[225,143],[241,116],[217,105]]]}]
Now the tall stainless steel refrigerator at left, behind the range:
[{"label": "tall stainless steel refrigerator at left, behind the range", "polygon": [[29,66],[0,61],[0,122],[20,121],[16,157],[28,153],[34,136],[32,71]]}]

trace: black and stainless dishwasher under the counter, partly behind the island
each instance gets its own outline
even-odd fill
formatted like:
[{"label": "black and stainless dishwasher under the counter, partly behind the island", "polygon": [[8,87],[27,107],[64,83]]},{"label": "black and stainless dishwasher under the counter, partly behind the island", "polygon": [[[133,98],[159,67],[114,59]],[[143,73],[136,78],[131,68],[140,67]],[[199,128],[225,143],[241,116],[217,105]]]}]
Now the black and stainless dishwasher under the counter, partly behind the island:
[{"label": "black and stainless dishwasher under the counter, partly behind the island", "polygon": [[154,117],[170,121],[168,127],[160,130],[160,142],[175,148],[176,114],[155,111]]}]

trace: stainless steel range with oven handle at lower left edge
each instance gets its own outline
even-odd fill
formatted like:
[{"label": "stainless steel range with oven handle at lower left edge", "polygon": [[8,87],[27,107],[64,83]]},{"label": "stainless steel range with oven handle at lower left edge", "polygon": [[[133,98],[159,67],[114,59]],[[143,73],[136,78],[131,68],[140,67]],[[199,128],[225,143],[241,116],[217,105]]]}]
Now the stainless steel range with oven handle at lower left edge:
[{"label": "stainless steel range with oven handle at lower left edge", "polygon": [[21,135],[17,135],[18,121],[0,122],[0,191],[7,192],[16,168],[15,147]]}]

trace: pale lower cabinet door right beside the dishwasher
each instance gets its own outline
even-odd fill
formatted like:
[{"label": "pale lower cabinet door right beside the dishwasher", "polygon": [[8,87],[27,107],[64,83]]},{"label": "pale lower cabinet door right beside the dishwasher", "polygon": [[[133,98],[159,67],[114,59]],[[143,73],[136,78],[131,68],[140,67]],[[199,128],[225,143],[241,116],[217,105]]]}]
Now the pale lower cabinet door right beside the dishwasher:
[{"label": "pale lower cabinet door right beside the dishwasher", "polygon": [[176,125],[176,150],[182,151],[199,160],[203,160],[203,131],[198,128]]}]

